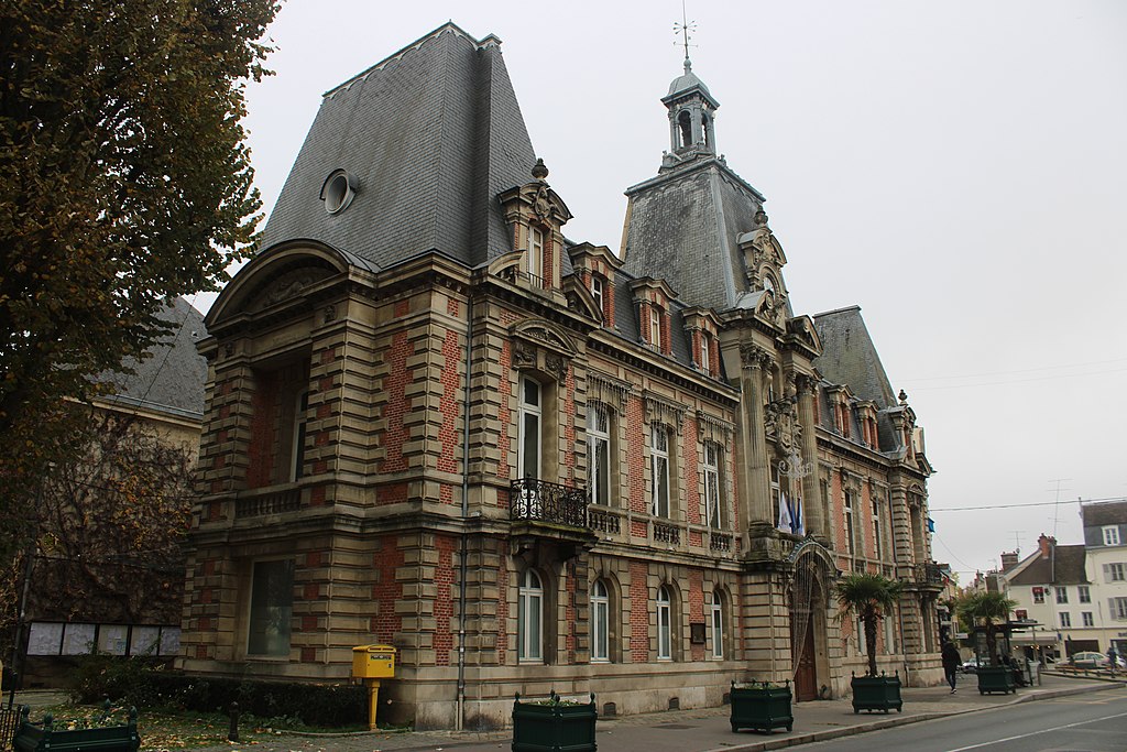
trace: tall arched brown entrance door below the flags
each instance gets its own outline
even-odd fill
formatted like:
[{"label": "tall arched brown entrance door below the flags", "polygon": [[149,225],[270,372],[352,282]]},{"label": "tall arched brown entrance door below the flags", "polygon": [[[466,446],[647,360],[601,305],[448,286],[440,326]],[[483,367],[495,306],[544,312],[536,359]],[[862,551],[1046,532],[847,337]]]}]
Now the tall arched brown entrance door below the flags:
[{"label": "tall arched brown entrance door below the flags", "polygon": [[[790,587],[790,651],[793,666],[795,699],[818,699],[819,671],[826,670],[826,598],[829,592],[829,565],[820,546],[811,543],[795,563]],[[816,547],[816,548],[814,548]],[[802,548],[807,548],[804,546]],[[796,554],[799,554],[796,550]]]}]

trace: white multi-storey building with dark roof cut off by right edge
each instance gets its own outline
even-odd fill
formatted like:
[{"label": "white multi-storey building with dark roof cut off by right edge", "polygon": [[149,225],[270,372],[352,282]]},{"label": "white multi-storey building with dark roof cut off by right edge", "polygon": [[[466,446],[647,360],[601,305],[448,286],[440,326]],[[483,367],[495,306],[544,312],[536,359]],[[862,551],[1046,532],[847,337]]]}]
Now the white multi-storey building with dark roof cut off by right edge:
[{"label": "white multi-storey building with dark roof cut off by right edge", "polygon": [[1115,645],[1122,656],[1127,653],[1127,499],[1082,504],[1080,515],[1092,583],[1088,609],[1092,625],[1085,636],[1099,640],[1100,647],[1092,649],[1107,653]]}]

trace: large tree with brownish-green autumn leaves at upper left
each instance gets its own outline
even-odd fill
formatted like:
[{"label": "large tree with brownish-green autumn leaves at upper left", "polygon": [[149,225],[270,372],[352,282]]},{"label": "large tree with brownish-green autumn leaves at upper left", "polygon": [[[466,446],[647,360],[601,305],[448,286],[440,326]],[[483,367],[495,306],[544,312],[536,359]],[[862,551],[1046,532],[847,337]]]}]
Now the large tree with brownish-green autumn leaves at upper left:
[{"label": "large tree with brownish-green autumn leaves at upper left", "polygon": [[241,118],[276,0],[0,3],[0,516],[39,427],[225,281],[260,206]]}]

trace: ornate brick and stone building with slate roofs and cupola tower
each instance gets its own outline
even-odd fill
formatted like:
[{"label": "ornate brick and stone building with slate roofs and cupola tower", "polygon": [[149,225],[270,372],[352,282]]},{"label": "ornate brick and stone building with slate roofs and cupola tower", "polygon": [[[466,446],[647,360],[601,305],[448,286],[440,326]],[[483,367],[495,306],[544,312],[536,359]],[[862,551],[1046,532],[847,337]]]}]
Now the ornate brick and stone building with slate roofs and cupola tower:
[{"label": "ornate brick and stone building with slate roofs and cupola tower", "polygon": [[183,667],[345,681],[392,644],[420,728],[813,699],[863,670],[864,570],[909,584],[880,665],[938,681],[922,432],[860,309],[791,310],[718,101],[686,61],[615,253],[566,237],[499,44],[447,24],[326,94],[208,313]]}]

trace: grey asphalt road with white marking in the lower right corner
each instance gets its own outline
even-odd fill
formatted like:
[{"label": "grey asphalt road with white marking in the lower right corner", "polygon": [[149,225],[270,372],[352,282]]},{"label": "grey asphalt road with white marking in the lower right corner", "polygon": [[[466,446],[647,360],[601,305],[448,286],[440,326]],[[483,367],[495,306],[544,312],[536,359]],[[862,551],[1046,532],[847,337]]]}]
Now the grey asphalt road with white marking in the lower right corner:
[{"label": "grey asphalt road with white marking in the lower right corner", "polygon": [[1127,750],[1127,690],[1010,705],[795,749],[810,752],[1124,752]]}]

